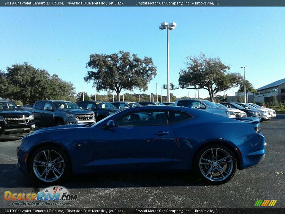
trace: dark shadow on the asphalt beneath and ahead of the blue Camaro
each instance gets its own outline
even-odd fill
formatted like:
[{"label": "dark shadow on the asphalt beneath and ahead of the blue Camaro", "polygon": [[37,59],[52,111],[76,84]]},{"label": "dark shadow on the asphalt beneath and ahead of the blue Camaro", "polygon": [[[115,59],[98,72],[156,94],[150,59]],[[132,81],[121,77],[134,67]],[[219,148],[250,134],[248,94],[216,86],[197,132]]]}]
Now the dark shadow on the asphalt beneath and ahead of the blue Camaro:
[{"label": "dark shadow on the asphalt beneath and ahead of the blue Camaro", "polygon": [[[30,175],[22,174],[15,164],[0,164],[0,188],[44,188]],[[185,171],[117,172],[70,175],[59,183],[66,188],[124,188],[153,186],[205,186],[194,173]]]}]

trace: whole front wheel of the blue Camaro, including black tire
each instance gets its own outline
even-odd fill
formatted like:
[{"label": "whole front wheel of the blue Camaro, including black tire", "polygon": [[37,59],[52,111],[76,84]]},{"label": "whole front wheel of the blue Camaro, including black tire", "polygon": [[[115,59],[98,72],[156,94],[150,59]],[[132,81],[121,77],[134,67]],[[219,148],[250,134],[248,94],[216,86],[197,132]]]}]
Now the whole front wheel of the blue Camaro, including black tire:
[{"label": "whole front wheel of the blue Camaro, including black tire", "polygon": [[43,146],[33,152],[29,168],[34,180],[49,185],[62,182],[71,172],[66,153],[54,145]]}]

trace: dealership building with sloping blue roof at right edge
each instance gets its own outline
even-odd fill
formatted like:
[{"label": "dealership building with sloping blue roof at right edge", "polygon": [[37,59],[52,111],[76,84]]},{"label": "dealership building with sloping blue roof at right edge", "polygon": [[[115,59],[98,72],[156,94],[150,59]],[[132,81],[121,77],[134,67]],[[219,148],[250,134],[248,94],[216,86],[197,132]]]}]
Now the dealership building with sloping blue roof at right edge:
[{"label": "dealership building with sloping blue roof at right edge", "polygon": [[284,103],[285,100],[285,78],[262,86],[256,89],[254,93],[254,101],[259,103],[261,101],[267,103],[272,102],[274,96],[277,97],[278,102]]}]

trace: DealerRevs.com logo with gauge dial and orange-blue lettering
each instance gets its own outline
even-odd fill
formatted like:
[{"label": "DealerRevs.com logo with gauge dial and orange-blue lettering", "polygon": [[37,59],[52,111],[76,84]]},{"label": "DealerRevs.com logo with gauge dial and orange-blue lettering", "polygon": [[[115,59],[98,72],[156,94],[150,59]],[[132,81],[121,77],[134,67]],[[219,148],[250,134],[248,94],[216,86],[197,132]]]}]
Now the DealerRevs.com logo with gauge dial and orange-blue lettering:
[{"label": "DealerRevs.com logo with gauge dial and orange-blue lettering", "polygon": [[70,194],[69,190],[63,186],[50,186],[38,193],[12,193],[4,192],[4,201],[11,201],[11,205],[70,205],[71,201],[76,201],[77,195]]}]

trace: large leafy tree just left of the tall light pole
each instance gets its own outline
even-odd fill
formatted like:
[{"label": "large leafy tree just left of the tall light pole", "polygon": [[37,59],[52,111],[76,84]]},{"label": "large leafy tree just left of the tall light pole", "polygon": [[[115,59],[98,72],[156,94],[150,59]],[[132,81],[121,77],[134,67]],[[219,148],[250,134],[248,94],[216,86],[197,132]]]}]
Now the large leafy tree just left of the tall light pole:
[{"label": "large leafy tree just left of the tall light pole", "polygon": [[121,90],[133,91],[148,89],[148,81],[156,76],[156,67],[151,57],[140,59],[136,54],[120,51],[118,54],[91,54],[84,81],[93,80],[96,91],[111,90],[117,93],[120,101]]}]

